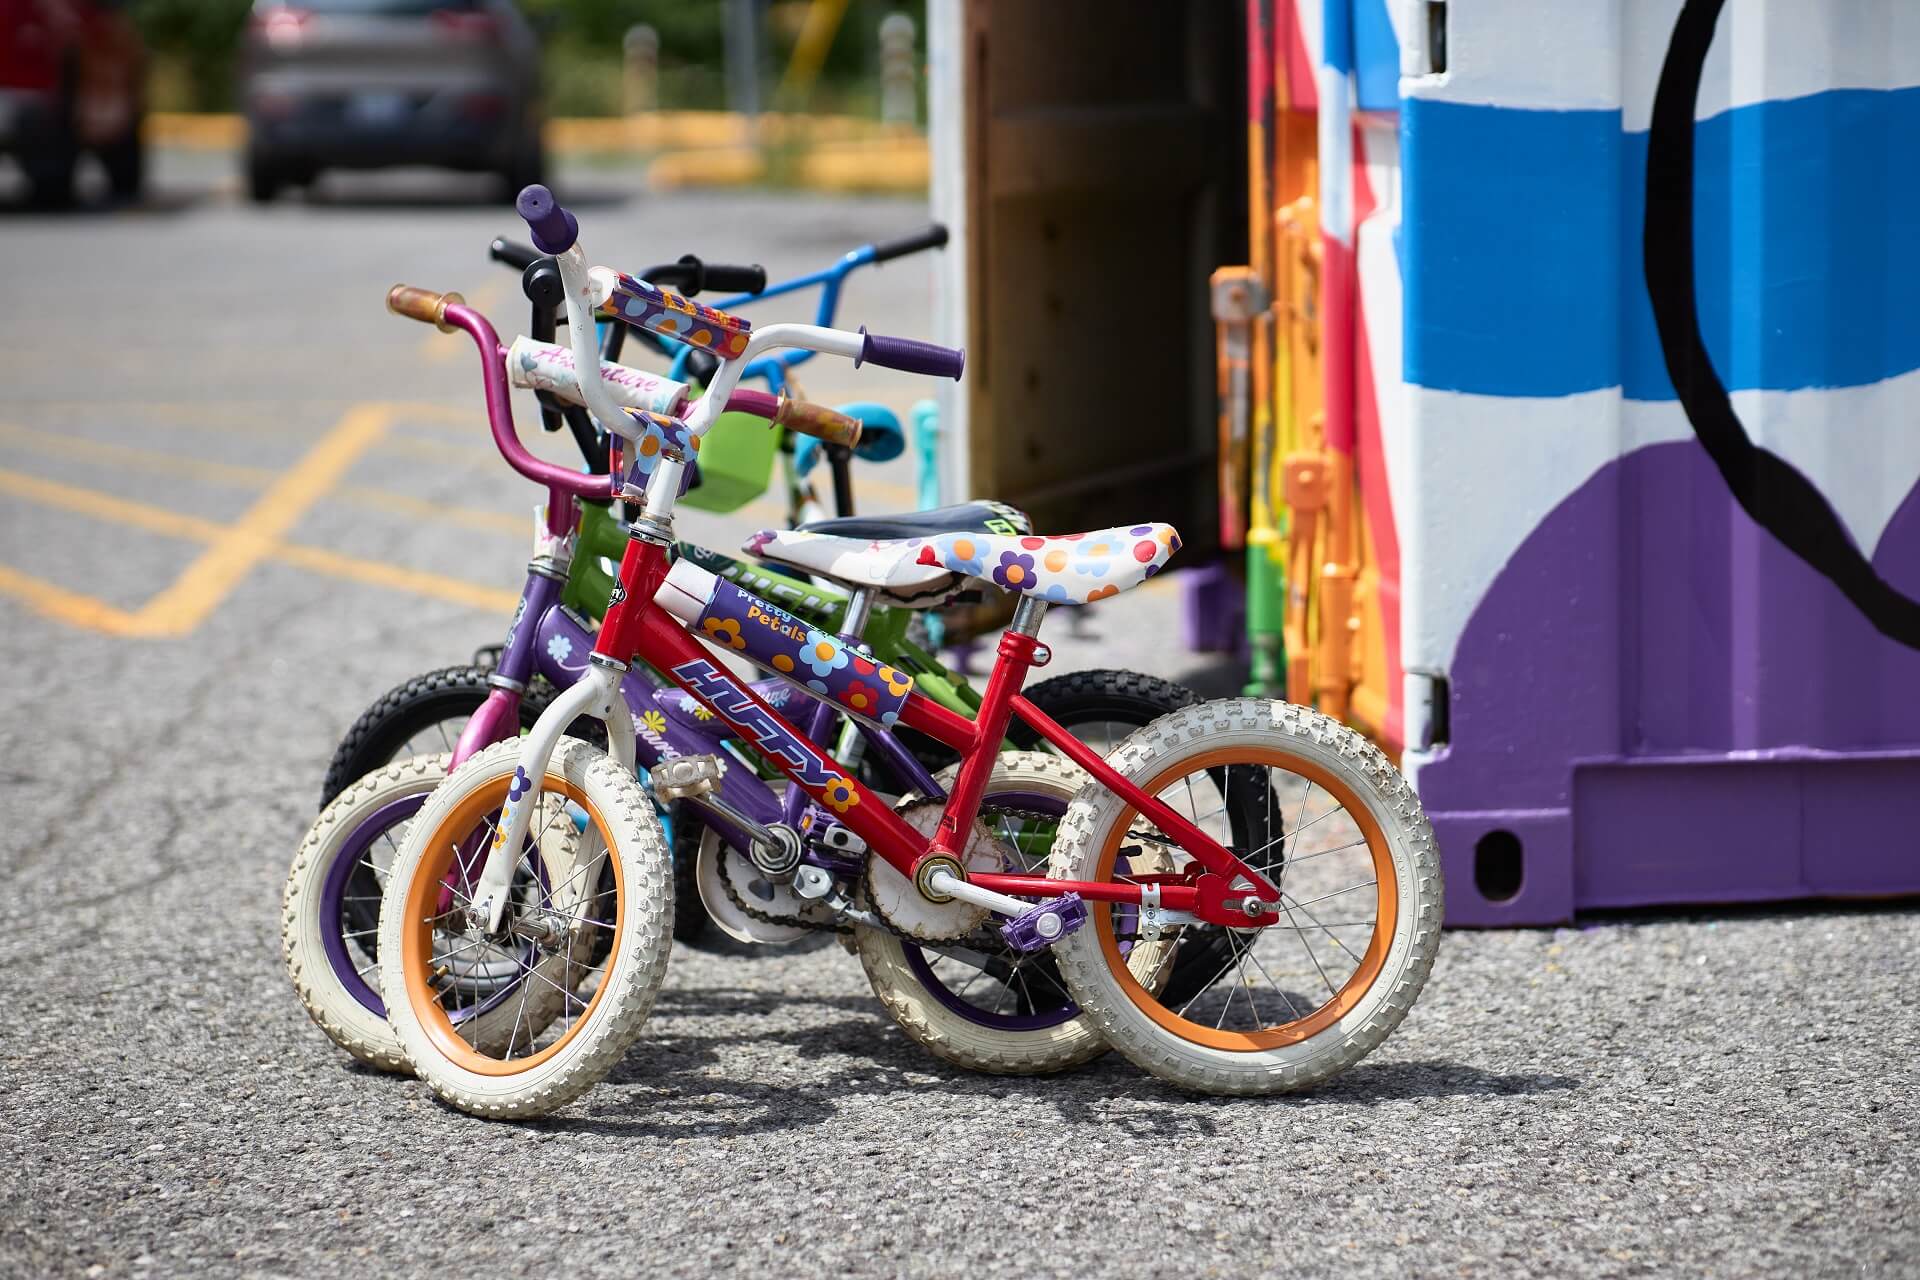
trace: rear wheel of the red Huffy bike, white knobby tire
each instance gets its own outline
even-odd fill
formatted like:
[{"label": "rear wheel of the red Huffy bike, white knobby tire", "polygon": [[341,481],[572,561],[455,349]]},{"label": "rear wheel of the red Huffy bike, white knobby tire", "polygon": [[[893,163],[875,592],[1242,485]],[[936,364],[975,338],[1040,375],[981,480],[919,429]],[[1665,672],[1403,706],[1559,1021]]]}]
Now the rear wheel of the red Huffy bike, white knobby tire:
[{"label": "rear wheel of the red Huffy bike, white knobby tire", "polygon": [[[1229,699],[1156,720],[1121,743],[1108,762],[1175,810],[1181,810],[1181,779],[1202,779],[1204,789],[1210,779],[1227,777],[1219,787],[1225,798],[1231,787],[1248,785],[1248,775],[1235,783],[1231,768],[1244,762],[1248,770],[1265,770],[1254,777],[1263,779],[1260,785],[1267,796],[1279,796],[1277,808],[1286,821],[1279,852],[1263,854],[1269,862],[1260,869],[1283,877],[1281,900],[1288,904],[1271,927],[1235,931],[1235,977],[1194,998],[1212,1000],[1200,1013],[1219,1009],[1221,1021],[1212,1027],[1187,1007],[1194,1000],[1169,1009],[1152,994],[1152,973],[1162,963],[1158,952],[1165,942],[1152,942],[1139,923],[1125,923],[1125,910],[1094,906],[1089,923],[1054,950],[1068,986],[1108,1042],[1133,1063],[1185,1088],[1273,1094],[1319,1084],[1386,1040],[1427,983],[1440,946],[1442,913],[1432,829],[1413,789],[1386,756],[1309,708]],[[1304,789],[1294,787],[1300,812],[1286,814],[1292,793],[1283,796],[1286,787],[1275,777],[1306,783]],[[1309,816],[1315,793],[1329,808]],[[1323,825],[1342,812],[1357,833],[1354,844],[1338,842],[1334,829]],[[1194,818],[1204,816],[1200,802]],[[1125,850],[1167,848],[1158,839],[1140,842],[1144,827],[1135,819],[1133,806],[1117,794],[1089,787],[1062,821],[1050,873],[1077,881],[1123,879]],[[1206,821],[1200,825],[1208,827]],[[1309,835],[1309,827],[1317,831]],[[1215,833],[1210,829],[1210,835]],[[1129,837],[1137,844],[1125,844]],[[1361,852],[1356,854],[1356,848]],[[1235,852],[1248,864],[1256,862],[1254,850]],[[1308,864],[1315,865],[1308,869]],[[1359,869],[1342,871],[1354,865]],[[1306,879],[1315,875],[1331,879],[1321,885]],[[1352,875],[1373,879],[1344,885]],[[1313,889],[1298,889],[1296,896],[1288,885]],[[1346,904],[1340,915],[1357,919],[1321,919],[1313,913],[1315,904],[1332,913],[1325,906],[1332,900]],[[1125,929],[1135,931],[1133,950],[1127,952],[1121,948]],[[1363,952],[1357,950],[1361,936]],[[1258,950],[1269,942],[1298,950],[1269,950],[1275,956],[1269,963],[1260,960]],[[1346,958],[1352,958],[1352,971],[1334,983]],[[1288,975],[1306,977],[1290,990],[1296,979]],[[1325,996],[1317,983],[1325,983]]]}]

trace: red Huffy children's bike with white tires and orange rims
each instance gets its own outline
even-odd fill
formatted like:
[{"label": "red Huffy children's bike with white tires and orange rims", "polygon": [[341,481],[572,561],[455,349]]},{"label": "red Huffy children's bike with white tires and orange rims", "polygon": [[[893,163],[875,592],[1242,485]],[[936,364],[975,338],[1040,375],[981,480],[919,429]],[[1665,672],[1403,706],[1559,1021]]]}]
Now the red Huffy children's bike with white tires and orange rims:
[{"label": "red Huffy children's bike with white tires and orange rims", "polygon": [[[589,267],[574,217],[545,188],[522,192],[520,213],[559,261],[578,368],[597,367],[591,334],[603,309],[705,347],[720,365],[685,420],[622,409],[597,380],[582,380],[622,453],[649,462],[628,468],[628,497],[643,507],[593,670],[524,739],[480,752],[442,783],[392,865],[382,996],[436,1094],[478,1115],[541,1115],[605,1077],[645,1023],[666,973],[672,889],[653,804],[628,758],[634,729],[618,683],[636,658],[666,672],[822,806],[841,829],[837,848],[866,864],[862,927],[916,942],[966,946],[996,935],[1016,950],[1050,950],[1112,1046],[1167,1080],[1219,1094],[1306,1088],[1394,1031],[1432,967],[1442,887],[1419,800],[1375,747],[1309,708],[1233,699],[1173,712],[1100,758],[1020,695],[1027,672],[1048,660],[1039,639],[1046,610],[1142,583],[1179,549],[1169,526],[881,541],[795,532],[756,547],[893,604],[924,608],[975,581],[1016,593],[979,716],[956,716],[916,695],[908,676],[687,560],[670,562],[668,549],[699,436],[753,357],[797,347],[958,378],[964,355],[866,330],[751,330]],[[411,297],[420,319],[444,319],[449,305]],[[945,743],[962,758],[950,794],[889,806],[689,631],[843,712]],[[563,737],[580,716],[607,723],[612,754]],[[977,821],[1016,718],[1091,775],[1058,825],[1046,875],[1018,871],[1035,850],[1008,848]],[[814,875],[791,833],[724,810],[716,781],[726,768],[745,766],[680,758],[651,777],[657,793],[749,831],[768,877],[803,898],[826,892],[831,877]],[[1248,812],[1267,818],[1229,821]],[[1221,933],[1219,973],[1164,998],[1181,946],[1202,935],[1217,944]],[[465,1031],[472,1019],[449,975],[476,948],[520,956],[518,992],[507,994],[516,1002],[511,1034]],[[503,1007],[499,992],[492,1000]],[[488,1021],[497,1031],[501,1019]]]}]

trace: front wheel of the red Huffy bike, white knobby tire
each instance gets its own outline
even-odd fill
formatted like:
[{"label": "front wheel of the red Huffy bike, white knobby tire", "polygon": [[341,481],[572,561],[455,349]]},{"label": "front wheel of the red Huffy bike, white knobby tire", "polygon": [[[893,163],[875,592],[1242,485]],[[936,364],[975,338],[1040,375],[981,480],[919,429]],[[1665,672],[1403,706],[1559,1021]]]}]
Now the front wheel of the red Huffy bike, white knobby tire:
[{"label": "front wheel of the red Huffy bike, white knobby tire", "polygon": [[561,1009],[534,1034],[526,1034],[534,1019],[516,1013],[520,1027],[505,1042],[463,1034],[467,1023],[444,1002],[445,967],[459,948],[482,942],[449,933],[457,925],[438,929],[436,919],[455,846],[470,848],[497,816],[518,762],[518,741],[497,743],[434,793],[380,908],[380,994],[394,1034],[434,1094],[492,1119],[545,1115],[593,1088],[639,1036],[672,948],[672,856],[653,802],[605,752],[563,737],[540,783],[555,804],[536,821],[570,810],[586,814],[586,831],[568,841],[568,854],[540,841],[530,850],[540,867],[522,854],[532,869],[522,883],[541,890],[516,894],[511,912],[522,927],[549,931],[528,944],[515,1004],[536,1006],[540,990]]}]

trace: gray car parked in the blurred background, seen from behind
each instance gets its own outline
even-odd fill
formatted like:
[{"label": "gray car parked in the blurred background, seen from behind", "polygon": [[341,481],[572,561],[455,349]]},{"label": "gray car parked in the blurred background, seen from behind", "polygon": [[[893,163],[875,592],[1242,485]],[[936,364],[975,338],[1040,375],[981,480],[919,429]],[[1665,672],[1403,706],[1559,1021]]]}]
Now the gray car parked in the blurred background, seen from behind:
[{"label": "gray car parked in the blurred background, seen from behind", "polygon": [[240,98],[259,201],[323,169],[541,180],[540,38],[511,0],[257,0]]}]

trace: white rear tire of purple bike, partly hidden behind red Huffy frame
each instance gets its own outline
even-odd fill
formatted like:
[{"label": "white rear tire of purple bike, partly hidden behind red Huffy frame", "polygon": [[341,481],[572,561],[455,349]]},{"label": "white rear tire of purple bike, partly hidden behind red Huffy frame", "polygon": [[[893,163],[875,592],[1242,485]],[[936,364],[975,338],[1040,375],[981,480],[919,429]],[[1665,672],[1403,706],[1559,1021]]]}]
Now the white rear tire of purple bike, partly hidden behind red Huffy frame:
[{"label": "white rear tire of purple bike, partly hidden behind red Huffy frame", "polygon": [[[958,768],[941,773],[941,785],[950,787],[956,773]],[[1085,781],[1087,773],[1060,756],[1010,750],[995,762],[985,804],[991,806],[995,794],[1031,794],[1048,798],[1064,810]],[[987,825],[993,829],[993,823]],[[1044,862],[1044,852],[1035,862]],[[1037,867],[1035,873],[1039,873]],[[989,923],[991,927],[993,923]],[[948,958],[962,948],[943,948],[937,942],[920,944],[914,948],[918,952],[916,963],[902,938],[885,929],[864,927],[854,931],[854,948],[860,956],[860,967],[866,969],[866,981],[900,1031],[935,1057],[958,1067],[993,1075],[1041,1075],[1079,1067],[1106,1052],[1106,1040],[1085,1013],[1050,1023],[1041,1017],[1033,1021],[1043,1025],[1016,1027],[1014,1019],[995,1015],[979,988],[964,992],[979,1004],[970,1004],[952,990],[947,990],[945,998],[931,990],[929,981],[941,983],[943,977],[964,984],[950,975],[956,965],[960,973],[966,973],[966,967]],[[995,979],[989,979],[987,986],[993,988],[995,996],[1014,998],[1025,988],[1029,1002],[1035,996],[1043,1000],[1064,998],[1066,990],[1060,988],[1056,971],[1041,956],[1044,952],[1000,958],[1002,963],[1016,967],[998,979],[998,986],[995,986]],[[973,969],[973,973],[979,971]],[[1014,1009],[1012,1002],[1008,1009]]]}]

